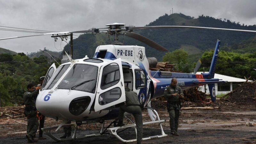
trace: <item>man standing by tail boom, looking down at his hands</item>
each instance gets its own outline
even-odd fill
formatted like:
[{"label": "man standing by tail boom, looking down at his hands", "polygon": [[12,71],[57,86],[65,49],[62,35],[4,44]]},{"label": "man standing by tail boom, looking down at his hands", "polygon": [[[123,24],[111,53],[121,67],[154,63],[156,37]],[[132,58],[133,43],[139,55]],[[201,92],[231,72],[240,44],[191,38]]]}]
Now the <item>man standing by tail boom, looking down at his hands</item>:
[{"label": "man standing by tail boom, looking down at his hands", "polygon": [[181,108],[181,101],[183,99],[183,92],[177,85],[177,78],[172,78],[172,82],[164,90],[164,98],[167,100],[167,110],[170,116],[171,134],[178,136],[177,133],[179,125],[179,114]]}]

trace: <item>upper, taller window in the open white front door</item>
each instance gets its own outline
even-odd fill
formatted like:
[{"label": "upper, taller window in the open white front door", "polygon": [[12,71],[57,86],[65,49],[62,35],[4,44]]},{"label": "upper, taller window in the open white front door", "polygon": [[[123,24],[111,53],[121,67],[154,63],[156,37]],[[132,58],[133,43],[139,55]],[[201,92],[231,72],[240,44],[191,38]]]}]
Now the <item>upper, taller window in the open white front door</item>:
[{"label": "upper, taller window in the open white front door", "polygon": [[111,63],[103,68],[101,85],[102,90],[117,84],[120,80],[120,71],[116,63]]}]

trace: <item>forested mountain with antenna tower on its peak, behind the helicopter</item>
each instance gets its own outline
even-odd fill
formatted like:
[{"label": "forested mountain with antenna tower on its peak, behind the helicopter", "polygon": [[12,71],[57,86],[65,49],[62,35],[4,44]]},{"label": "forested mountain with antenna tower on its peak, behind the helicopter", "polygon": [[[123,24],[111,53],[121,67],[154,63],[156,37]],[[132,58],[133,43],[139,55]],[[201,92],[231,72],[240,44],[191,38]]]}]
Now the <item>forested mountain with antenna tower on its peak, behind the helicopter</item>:
[{"label": "forested mountain with antenna tower on its peak, behind the helicopter", "polygon": [[[198,26],[198,27],[214,27],[214,28],[234,28],[234,29],[247,29],[256,30],[256,25],[246,26],[239,22],[231,22],[226,19],[215,19],[213,17],[201,15],[198,18],[186,16],[184,14],[165,14],[146,26],[160,26],[160,25],[176,25],[176,26]],[[169,28],[169,29],[150,29],[150,30],[136,30],[134,31],[142,36],[146,36],[156,43],[164,46],[169,51],[175,49],[196,49],[200,50],[213,49],[217,39],[221,41],[221,46],[233,46],[248,40],[254,36],[255,33],[250,32],[237,32],[225,30],[210,30],[210,29],[193,29],[193,28]],[[111,39],[113,39],[111,37]],[[119,36],[122,41],[122,36]],[[73,41],[74,58],[83,58],[85,55],[92,57],[95,48],[100,44],[109,44],[107,35],[92,35],[82,34]],[[158,61],[162,60],[165,52],[158,52],[140,41],[134,40],[125,36],[125,45],[140,45],[145,46],[147,57],[156,57]],[[70,46],[66,45],[64,51],[70,51]],[[191,50],[190,50],[191,51]],[[246,51],[246,49],[245,49]],[[157,55],[156,55],[157,52]],[[192,52],[194,52],[192,50]],[[195,53],[193,53],[195,54]]]}]

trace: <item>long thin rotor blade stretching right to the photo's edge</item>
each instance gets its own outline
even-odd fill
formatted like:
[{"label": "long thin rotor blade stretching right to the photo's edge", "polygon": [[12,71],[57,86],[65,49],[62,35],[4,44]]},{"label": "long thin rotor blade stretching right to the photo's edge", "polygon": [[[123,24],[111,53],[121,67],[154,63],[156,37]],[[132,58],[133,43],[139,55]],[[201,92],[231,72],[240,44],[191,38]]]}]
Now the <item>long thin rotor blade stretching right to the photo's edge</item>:
[{"label": "long thin rotor blade stretching right to the photo's edge", "polygon": [[210,27],[190,27],[190,26],[147,26],[147,27],[129,27],[129,30],[137,29],[149,29],[149,28],[203,28],[203,29],[217,29],[217,30],[232,30],[232,31],[245,31],[256,32],[256,30],[244,30],[244,29],[228,29],[228,28],[210,28]]}]

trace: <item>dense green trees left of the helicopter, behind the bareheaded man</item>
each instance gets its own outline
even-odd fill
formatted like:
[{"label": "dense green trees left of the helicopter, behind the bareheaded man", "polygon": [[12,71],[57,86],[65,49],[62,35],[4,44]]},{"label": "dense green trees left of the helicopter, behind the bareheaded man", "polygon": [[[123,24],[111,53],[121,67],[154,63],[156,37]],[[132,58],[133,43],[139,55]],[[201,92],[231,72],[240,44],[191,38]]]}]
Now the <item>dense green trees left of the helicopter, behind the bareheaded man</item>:
[{"label": "dense green trees left of the helicopter, behind the bareheaded man", "polygon": [[26,54],[0,54],[0,100],[1,106],[23,104],[23,94],[29,83],[39,84],[53,60],[41,55],[30,59]]}]

